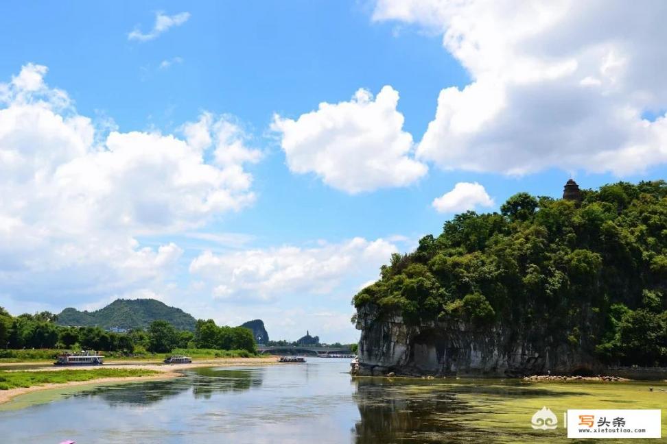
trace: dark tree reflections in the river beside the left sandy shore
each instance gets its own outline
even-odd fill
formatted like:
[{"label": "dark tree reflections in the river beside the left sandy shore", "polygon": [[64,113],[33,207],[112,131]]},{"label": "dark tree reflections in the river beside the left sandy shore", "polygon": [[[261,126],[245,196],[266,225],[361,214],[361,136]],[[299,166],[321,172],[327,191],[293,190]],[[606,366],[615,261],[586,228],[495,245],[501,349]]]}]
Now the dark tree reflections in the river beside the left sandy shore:
[{"label": "dark tree reflections in the river beside the left sandy shore", "polygon": [[72,393],[71,397],[103,399],[110,406],[147,406],[191,393],[194,399],[211,399],[213,393],[235,393],[261,387],[264,369],[191,369],[175,380],[143,382],[141,385],[100,386]]}]

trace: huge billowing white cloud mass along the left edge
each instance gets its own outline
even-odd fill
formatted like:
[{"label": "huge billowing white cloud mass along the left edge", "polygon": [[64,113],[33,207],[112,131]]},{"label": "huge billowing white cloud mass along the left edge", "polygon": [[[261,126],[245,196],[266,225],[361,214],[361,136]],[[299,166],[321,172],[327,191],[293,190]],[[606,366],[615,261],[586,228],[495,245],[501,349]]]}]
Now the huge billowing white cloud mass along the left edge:
[{"label": "huge billowing white cloud mass along the left edge", "polygon": [[[79,114],[27,64],[0,91],[0,291],[89,301],[169,280],[183,249],[139,236],[199,229],[253,203],[261,154],[229,116],[204,112],[185,140],[119,132]],[[209,160],[210,159],[210,160]]]}]

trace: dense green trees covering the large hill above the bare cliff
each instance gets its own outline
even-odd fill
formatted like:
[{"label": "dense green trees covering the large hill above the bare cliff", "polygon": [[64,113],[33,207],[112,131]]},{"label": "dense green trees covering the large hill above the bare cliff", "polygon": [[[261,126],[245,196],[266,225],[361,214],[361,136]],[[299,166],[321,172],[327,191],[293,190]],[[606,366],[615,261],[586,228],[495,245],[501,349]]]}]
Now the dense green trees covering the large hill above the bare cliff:
[{"label": "dense green trees covering the large hill above the bare cliff", "polygon": [[667,184],[619,182],[582,202],[514,195],[395,254],[355,295],[408,323],[463,320],[609,363],[667,365]]}]

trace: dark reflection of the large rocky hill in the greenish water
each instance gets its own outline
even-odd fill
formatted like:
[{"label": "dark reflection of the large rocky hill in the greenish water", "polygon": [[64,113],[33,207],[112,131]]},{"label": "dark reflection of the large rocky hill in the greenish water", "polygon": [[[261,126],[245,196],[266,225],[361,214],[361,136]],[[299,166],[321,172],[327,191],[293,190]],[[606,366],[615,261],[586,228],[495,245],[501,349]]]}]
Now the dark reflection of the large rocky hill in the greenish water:
[{"label": "dark reflection of the large rocky hill in the greenish water", "polygon": [[[505,385],[506,384],[506,385]],[[585,393],[568,393],[585,395]],[[494,399],[558,396],[517,381],[433,382],[360,378],[353,394],[360,420],[355,443],[465,443],[488,441],[489,430],[471,424],[471,415],[493,414]],[[470,399],[475,399],[471,402]],[[505,434],[504,438],[508,435]]]}]

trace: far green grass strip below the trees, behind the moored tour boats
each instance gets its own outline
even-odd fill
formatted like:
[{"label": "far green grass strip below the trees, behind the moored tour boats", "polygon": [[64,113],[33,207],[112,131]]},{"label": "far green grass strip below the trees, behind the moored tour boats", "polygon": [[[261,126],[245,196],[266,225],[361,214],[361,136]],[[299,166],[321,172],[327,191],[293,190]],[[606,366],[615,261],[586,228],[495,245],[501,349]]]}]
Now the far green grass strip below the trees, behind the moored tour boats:
[{"label": "far green grass strip below the trees, behind the moored tour boats", "polygon": [[[58,354],[64,353],[62,349],[27,349],[13,350],[0,349],[0,363],[20,363],[50,361],[56,359]],[[213,359],[213,358],[252,358],[259,356],[248,352],[247,350],[218,350],[218,349],[173,349],[171,353],[150,353],[143,351],[134,354],[123,354],[119,351],[101,351],[106,360],[163,360],[170,355],[185,355],[194,359]]]}]

